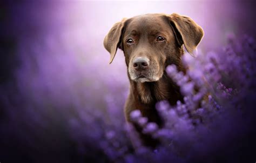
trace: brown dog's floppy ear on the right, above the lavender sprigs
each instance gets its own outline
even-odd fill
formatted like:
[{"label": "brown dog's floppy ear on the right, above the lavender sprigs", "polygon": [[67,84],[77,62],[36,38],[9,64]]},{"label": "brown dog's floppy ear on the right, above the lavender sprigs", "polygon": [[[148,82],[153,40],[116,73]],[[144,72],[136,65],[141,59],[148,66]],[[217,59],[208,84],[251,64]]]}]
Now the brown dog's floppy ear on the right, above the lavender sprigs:
[{"label": "brown dog's floppy ear on the right, above the lavender sprigs", "polygon": [[177,13],[168,17],[178,43],[180,46],[184,44],[186,50],[194,57],[193,52],[197,50],[197,45],[204,36],[203,29],[189,17]]}]

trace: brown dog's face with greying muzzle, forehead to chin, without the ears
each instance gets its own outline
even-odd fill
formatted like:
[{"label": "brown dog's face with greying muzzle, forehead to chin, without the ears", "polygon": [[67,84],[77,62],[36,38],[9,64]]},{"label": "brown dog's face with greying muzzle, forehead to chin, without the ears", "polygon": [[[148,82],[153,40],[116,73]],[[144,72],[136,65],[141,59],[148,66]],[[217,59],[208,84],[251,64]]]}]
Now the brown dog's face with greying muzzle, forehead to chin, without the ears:
[{"label": "brown dog's face with greying muzzle, forehead to chin, without the ears", "polygon": [[130,19],[123,34],[123,51],[130,78],[157,81],[165,70],[166,58],[177,53],[176,40],[167,19],[145,15]]}]

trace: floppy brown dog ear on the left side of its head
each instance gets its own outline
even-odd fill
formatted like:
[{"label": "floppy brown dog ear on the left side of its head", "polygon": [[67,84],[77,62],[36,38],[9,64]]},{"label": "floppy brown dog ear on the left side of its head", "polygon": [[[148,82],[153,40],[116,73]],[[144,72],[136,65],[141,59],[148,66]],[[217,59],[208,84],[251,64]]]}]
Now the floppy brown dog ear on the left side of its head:
[{"label": "floppy brown dog ear on the left side of its head", "polygon": [[109,64],[112,63],[114,56],[116,56],[117,47],[122,42],[122,33],[126,20],[126,18],[123,18],[121,22],[114,24],[104,38],[104,47],[110,53]]}]

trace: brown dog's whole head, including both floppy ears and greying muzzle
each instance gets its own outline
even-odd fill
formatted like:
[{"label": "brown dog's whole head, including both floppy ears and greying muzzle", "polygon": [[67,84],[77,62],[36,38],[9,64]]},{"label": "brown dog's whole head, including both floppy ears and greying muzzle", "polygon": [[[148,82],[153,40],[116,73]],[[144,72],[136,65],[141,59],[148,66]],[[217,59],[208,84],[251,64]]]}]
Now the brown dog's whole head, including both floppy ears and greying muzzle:
[{"label": "brown dog's whole head, including both floppy ears and greying muzzle", "polygon": [[189,17],[147,14],[114,24],[104,47],[111,54],[110,63],[117,48],[122,49],[131,80],[143,83],[159,80],[167,65],[178,65],[183,44],[192,54],[203,35],[203,29]]}]

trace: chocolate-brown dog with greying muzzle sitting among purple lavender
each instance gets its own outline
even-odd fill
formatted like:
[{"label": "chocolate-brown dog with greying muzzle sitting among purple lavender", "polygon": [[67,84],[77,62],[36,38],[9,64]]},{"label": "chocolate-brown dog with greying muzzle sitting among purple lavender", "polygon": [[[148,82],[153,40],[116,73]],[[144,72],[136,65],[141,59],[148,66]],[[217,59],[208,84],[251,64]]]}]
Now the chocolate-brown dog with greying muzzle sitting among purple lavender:
[{"label": "chocolate-brown dog with greying muzzle sitting among purple lavender", "polygon": [[[177,13],[141,15],[114,24],[104,39],[104,47],[111,54],[110,63],[118,47],[124,51],[130,80],[130,94],[125,104],[127,121],[133,110],[140,110],[149,121],[161,126],[155,108],[157,101],[167,100],[171,105],[177,100],[183,101],[179,87],[167,77],[165,68],[175,64],[179,71],[185,72],[181,63],[182,45],[192,53],[203,35],[203,29],[191,18]],[[157,145],[157,140],[135,127],[144,145]]]}]

